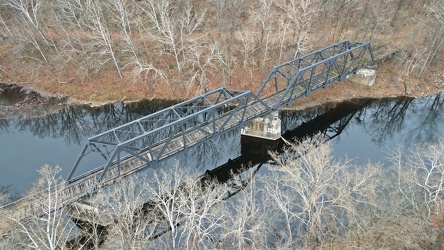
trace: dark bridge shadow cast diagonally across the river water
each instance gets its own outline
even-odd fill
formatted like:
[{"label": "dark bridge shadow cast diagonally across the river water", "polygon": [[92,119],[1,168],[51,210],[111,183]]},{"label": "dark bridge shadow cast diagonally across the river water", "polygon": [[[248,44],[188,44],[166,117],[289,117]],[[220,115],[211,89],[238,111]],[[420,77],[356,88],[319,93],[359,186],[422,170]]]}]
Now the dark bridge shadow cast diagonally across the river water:
[{"label": "dark bridge shadow cast diagonally across the river water", "polygon": [[[184,167],[187,165],[190,167],[191,165],[201,172],[197,179],[202,183],[207,183],[208,180],[217,180],[218,183],[225,184],[228,191],[223,199],[228,200],[245,189],[264,164],[272,160],[269,151],[283,152],[288,141],[312,140],[313,142],[319,142],[331,140],[341,134],[357,112],[373,101],[355,100],[332,105],[329,108],[318,107],[304,112],[281,111],[283,139],[267,141],[242,136],[239,140],[240,131],[235,130],[222,134],[216,140],[200,144],[196,148],[190,149],[189,152],[181,152],[172,159],[159,163],[156,168],[167,168],[174,165],[174,161]],[[320,138],[321,140],[319,140]],[[227,155],[232,158],[230,157],[227,160]],[[225,163],[219,164],[218,162]],[[155,171],[155,169],[150,171]],[[186,184],[180,185],[178,188],[183,188],[183,186],[186,186]],[[156,211],[156,203],[153,201],[145,203],[142,211],[143,215],[135,217],[154,221],[151,217],[161,214]],[[95,230],[98,228],[102,237],[106,237],[108,226],[92,225],[81,219],[74,219],[74,221],[82,228],[83,232],[93,231],[92,228],[96,227]],[[158,238],[167,232],[169,232],[168,225],[158,226],[158,230],[151,236],[151,239]],[[79,243],[85,244],[88,238],[87,235],[79,236],[73,239],[70,245],[75,248]]]}]

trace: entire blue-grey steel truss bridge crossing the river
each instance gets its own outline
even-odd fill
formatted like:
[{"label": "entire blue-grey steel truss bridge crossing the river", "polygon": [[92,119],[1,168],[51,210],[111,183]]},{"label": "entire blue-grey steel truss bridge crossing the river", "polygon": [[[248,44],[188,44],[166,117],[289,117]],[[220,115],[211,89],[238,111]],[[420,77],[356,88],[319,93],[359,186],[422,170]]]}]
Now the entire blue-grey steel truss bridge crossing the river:
[{"label": "entire blue-grey steel truss bridge crossing the river", "polygon": [[[343,41],[275,66],[256,94],[216,89],[91,137],[61,191],[60,207],[373,64],[370,43]],[[104,164],[74,177],[90,153],[100,154]],[[18,214],[16,208],[24,204],[40,204],[39,197],[44,195],[27,196],[4,206],[0,217]]]}]

